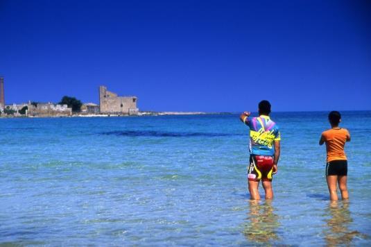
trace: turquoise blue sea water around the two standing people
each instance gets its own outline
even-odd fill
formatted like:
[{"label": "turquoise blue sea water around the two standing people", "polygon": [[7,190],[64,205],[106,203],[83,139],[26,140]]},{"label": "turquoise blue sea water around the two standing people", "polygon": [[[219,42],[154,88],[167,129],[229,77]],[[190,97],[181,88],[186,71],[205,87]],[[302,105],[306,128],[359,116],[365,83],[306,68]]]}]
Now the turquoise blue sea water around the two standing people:
[{"label": "turquoise blue sea water around the two standing people", "polygon": [[272,118],[271,203],[249,201],[238,115],[0,119],[0,244],[370,245],[371,112],[343,112],[350,202],[334,204],[327,112]]}]

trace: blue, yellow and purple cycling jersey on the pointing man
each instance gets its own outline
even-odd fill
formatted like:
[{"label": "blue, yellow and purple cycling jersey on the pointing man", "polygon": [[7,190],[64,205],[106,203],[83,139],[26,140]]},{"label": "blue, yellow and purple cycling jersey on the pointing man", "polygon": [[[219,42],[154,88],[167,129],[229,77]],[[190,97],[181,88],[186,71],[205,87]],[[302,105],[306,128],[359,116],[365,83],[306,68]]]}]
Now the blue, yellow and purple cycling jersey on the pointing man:
[{"label": "blue, yellow and purple cycling jersey on the pointing man", "polygon": [[245,117],[243,122],[250,127],[250,153],[273,156],[275,154],[273,142],[281,140],[277,124],[265,115]]}]

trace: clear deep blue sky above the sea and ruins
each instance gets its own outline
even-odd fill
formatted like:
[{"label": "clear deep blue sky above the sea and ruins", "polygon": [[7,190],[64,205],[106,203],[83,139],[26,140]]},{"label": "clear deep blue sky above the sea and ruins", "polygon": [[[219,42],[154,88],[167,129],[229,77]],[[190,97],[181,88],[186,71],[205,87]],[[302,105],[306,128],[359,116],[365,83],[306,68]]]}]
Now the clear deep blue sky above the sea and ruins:
[{"label": "clear deep blue sky above the sea and ruins", "polygon": [[0,0],[6,103],[371,110],[371,1]]}]

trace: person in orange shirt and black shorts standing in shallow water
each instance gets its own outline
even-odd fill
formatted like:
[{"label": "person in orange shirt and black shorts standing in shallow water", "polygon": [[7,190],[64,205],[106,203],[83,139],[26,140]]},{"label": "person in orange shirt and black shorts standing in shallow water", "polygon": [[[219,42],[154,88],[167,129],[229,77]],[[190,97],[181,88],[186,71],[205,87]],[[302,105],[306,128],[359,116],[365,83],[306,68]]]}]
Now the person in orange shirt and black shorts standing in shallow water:
[{"label": "person in orange shirt and black shorts standing in shallow water", "polygon": [[350,142],[350,133],[346,128],[340,128],[340,112],[329,113],[331,128],[325,130],[320,138],[320,145],[326,143],[327,164],[326,180],[329,187],[331,201],[338,200],[337,184],[339,185],[341,198],[349,198],[347,191],[347,156],[345,156],[345,142]]}]

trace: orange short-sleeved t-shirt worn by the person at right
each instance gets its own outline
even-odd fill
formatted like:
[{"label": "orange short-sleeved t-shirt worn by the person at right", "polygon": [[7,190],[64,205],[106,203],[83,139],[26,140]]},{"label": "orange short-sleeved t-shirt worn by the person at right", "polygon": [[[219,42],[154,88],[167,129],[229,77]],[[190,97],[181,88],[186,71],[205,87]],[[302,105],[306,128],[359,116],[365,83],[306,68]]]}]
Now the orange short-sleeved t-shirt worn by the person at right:
[{"label": "orange short-sleeved t-shirt worn by the person at right", "polygon": [[347,160],[344,146],[350,134],[346,128],[331,128],[322,133],[322,139],[326,142],[327,162],[332,160]]}]

